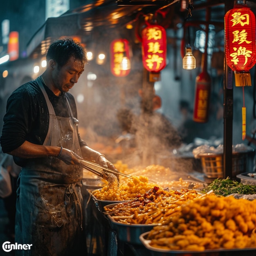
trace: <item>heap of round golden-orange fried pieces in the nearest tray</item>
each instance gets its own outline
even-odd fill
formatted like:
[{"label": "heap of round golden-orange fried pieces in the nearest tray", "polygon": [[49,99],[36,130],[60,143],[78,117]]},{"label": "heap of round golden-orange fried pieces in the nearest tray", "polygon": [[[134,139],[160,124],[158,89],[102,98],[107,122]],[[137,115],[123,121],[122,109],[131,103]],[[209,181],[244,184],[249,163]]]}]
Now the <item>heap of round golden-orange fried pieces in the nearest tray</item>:
[{"label": "heap of round golden-orange fried pieces in the nearest tray", "polygon": [[[164,244],[170,250],[192,251],[256,247],[255,200],[204,195],[180,208],[177,215],[166,220],[165,225],[154,227],[149,232],[147,238],[151,240],[151,246],[161,247]],[[169,246],[165,241],[170,241],[170,238]]]}]

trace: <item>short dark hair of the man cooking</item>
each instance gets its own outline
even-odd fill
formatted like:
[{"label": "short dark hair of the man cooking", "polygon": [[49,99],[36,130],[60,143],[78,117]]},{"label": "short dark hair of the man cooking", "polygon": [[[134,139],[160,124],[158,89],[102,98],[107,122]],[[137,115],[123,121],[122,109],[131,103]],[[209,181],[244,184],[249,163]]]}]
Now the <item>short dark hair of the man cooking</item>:
[{"label": "short dark hair of the man cooking", "polygon": [[70,57],[73,56],[81,63],[87,63],[87,56],[84,47],[72,38],[64,38],[54,41],[46,54],[46,60],[56,61],[59,67],[67,64]]}]

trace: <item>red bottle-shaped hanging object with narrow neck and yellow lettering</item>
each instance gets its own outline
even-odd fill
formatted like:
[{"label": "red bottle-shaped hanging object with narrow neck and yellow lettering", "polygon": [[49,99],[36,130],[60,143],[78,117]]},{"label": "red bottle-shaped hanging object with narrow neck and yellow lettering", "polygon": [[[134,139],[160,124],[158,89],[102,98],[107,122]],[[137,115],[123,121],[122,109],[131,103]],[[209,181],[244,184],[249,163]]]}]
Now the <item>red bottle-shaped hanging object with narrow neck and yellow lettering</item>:
[{"label": "red bottle-shaped hanging object with narrow neck and yellow lettering", "polygon": [[211,96],[211,77],[207,73],[207,44],[208,27],[205,37],[205,49],[202,60],[202,72],[195,79],[195,98],[193,121],[206,123],[209,119],[209,106]]}]

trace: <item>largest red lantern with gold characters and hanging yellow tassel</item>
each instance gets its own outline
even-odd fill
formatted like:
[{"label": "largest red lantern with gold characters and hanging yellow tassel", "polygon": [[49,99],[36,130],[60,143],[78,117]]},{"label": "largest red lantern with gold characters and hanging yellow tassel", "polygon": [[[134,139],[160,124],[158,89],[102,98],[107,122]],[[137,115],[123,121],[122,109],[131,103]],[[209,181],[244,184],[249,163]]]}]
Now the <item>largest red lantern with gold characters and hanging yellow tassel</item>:
[{"label": "largest red lantern with gold characters and hanging yellow tassel", "polygon": [[236,86],[243,87],[242,138],[246,135],[244,86],[251,86],[250,69],[256,63],[255,15],[246,4],[235,4],[224,17],[225,57],[234,71]]}]

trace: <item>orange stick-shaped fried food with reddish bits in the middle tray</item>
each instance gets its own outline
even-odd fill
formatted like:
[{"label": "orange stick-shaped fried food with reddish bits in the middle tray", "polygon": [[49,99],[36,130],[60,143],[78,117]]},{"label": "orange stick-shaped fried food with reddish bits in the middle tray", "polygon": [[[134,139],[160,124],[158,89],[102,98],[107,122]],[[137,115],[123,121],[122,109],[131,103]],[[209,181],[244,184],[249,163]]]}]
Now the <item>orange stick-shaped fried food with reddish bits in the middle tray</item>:
[{"label": "orange stick-shaped fried food with reddish bits in the middle tray", "polygon": [[[202,196],[198,191],[181,189],[180,191],[154,187],[136,200],[104,207],[105,213],[114,220],[125,224],[164,224],[171,215],[181,211],[184,202]],[[184,229],[182,219],[178,228]]]}]

